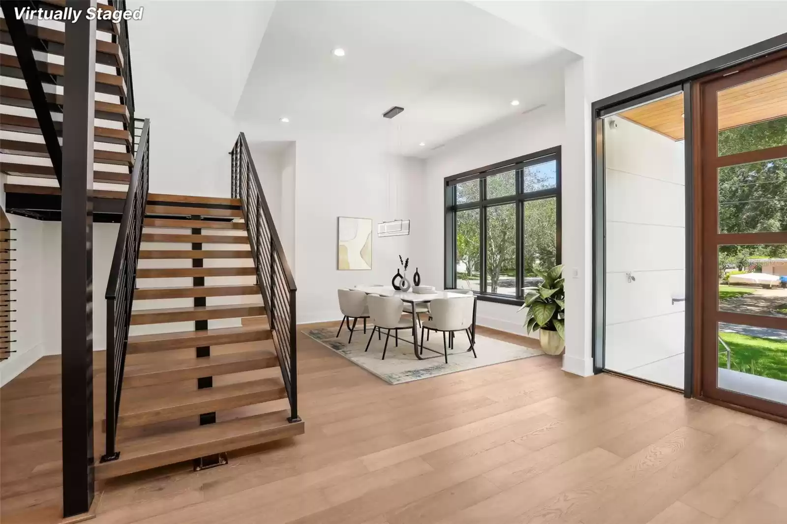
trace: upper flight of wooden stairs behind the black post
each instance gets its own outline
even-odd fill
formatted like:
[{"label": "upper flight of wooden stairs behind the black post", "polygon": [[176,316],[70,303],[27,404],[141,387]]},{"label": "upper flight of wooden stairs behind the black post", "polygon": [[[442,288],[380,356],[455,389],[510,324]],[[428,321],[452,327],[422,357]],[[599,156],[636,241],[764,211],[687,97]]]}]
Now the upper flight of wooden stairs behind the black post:
[{"label": "upper flight of wooden stairs behind the black post", "polygon": [[[100,0],[98,6],[124,9],[125,2]],[[0,19],[0,172],[8,176],[11,189],[6,211],[58,220],[59,157],[67,103],[63,91],[65,24],[16,20],[15,7],[57,11],[65,9],[65,0],[4,0]],[[125,193],[141,128],[134,116],[126,20],[97,24],[94,122],[94,188]],[[50,193],[42,194],[39,186],[51,188]],[[122,206],[111,205],[116,203],[107,200],[99,205],[96,221],[119,220]]]}]

